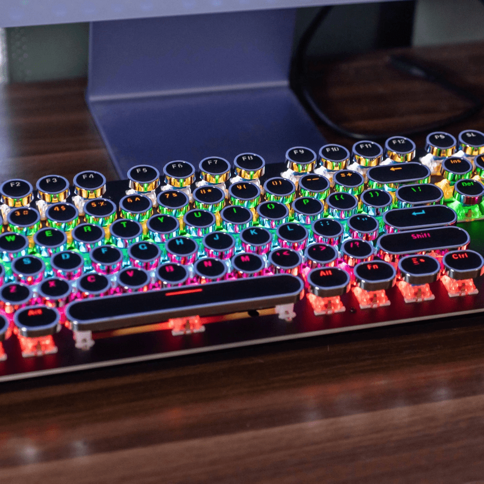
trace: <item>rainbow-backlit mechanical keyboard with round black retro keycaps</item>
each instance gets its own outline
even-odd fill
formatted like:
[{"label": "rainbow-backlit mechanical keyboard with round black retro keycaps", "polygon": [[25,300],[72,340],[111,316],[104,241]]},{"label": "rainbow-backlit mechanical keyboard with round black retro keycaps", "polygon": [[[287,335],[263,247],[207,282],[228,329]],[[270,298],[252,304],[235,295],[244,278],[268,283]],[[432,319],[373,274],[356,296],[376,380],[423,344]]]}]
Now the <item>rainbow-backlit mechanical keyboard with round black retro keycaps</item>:
[{"label": "rainbow-backlit mechanical keyboard with round black retro keycaps", "polygon": [[478,131],[0,197],[0,381],[484,311]]}]

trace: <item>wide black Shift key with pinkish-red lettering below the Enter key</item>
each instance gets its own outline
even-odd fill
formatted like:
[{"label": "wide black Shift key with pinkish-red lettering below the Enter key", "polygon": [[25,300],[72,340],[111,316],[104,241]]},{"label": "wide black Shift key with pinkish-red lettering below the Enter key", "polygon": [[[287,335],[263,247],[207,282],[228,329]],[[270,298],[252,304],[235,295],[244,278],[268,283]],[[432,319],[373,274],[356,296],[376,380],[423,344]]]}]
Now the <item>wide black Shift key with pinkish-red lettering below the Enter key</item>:
[{"label": "wide black Shift key with pinkish-red lettering below the Enter key", "polygon": [[384,234],[378,239],[378,255],[394,262],[404,254],[463,249],[469,241],[469,234],[454,226]]}]

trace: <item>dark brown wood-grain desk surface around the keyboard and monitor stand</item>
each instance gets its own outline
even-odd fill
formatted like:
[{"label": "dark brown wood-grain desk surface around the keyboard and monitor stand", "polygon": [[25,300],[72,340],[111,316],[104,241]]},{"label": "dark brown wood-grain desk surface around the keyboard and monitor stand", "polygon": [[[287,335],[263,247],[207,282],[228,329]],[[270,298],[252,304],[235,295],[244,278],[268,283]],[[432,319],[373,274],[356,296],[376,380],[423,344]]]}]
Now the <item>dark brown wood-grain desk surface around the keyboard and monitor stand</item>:
[{"label": "dark brown wood-grain desk surface around the keyboard and monitor stand", "polygon": [[[484,44],[407,53],[484,97]],[[318,63],[335,121],[392,131],[466,107],[386,58]],[[2,180],[89,168],[115,178],[84,87],[3,86]],[[467,127],[484,131],[482,113],[447,129]],[[4,383],[0,483],[17,482],[484,482],[482,318]]]}]

